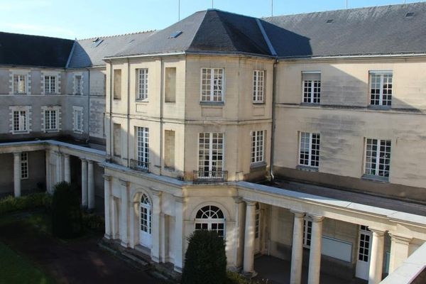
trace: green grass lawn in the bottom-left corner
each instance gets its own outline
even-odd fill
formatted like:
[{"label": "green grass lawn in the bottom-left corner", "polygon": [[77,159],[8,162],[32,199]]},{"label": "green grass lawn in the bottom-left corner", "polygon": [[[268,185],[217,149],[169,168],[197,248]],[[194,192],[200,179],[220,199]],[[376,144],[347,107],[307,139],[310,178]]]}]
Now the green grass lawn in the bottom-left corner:
[{"label": "green grass lawn in the bottom-left corner", "polygon": [[33,266],[31,261],[0,242],[0,283],[53,284],[55,282]]}]

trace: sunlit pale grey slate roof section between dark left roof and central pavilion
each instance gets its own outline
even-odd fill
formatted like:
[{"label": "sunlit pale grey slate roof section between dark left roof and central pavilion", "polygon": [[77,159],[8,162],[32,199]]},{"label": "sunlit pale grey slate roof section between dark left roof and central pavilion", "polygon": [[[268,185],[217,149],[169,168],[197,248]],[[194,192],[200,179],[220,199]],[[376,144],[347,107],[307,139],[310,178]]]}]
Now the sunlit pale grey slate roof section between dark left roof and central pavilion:
[{"label": "sunlit pale grey slate roof section between dark left roof and central pavilion", "polygon": [[[146,40],[153,31],[77,40],[68,67],[80,68],[105,65],[104,58]],[[99,43],[99,44],[97,44]]]}]

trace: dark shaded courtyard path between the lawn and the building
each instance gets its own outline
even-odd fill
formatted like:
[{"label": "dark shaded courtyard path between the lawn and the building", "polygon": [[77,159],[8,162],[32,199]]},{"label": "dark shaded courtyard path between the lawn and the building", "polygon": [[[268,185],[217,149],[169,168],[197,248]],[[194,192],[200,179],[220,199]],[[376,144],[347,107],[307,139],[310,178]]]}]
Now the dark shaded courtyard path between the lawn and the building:
[{"label": "dark shaded courtyard path between the lawn and the building", "polygon": [[0,231],[0,241],[26,255],[58,283],[163,283],[100,249],[93,236],[61,241],[22,221],[1,226]]}]

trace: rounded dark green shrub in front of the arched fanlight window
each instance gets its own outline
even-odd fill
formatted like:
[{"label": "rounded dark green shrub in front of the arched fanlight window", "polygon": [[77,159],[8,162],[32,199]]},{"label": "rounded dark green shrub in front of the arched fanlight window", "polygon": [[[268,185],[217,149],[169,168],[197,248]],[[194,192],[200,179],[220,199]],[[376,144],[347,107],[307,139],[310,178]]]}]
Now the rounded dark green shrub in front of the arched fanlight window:
[{"label": "rounded dark green shrub in front of the arched fanlight window", "polygon": [[188,241],[182,284],[226,283],[224,239],[216,231],[195,231]]}]

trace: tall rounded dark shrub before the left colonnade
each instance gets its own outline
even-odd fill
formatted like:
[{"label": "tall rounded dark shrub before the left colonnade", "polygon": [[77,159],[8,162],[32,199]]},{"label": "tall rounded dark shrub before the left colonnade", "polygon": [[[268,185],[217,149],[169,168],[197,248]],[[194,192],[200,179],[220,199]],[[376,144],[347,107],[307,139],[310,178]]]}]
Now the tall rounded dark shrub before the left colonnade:
[{"label": "tall rounded dark shrub before the left colonnade", "polygon": [[72,239],[82,234],[82,211],[77,191],[68,182],[55,185],[52,199],[52,234]]}]

